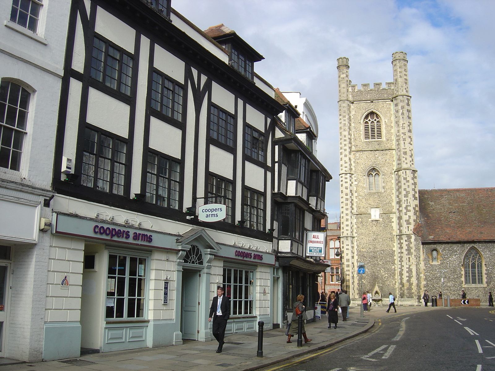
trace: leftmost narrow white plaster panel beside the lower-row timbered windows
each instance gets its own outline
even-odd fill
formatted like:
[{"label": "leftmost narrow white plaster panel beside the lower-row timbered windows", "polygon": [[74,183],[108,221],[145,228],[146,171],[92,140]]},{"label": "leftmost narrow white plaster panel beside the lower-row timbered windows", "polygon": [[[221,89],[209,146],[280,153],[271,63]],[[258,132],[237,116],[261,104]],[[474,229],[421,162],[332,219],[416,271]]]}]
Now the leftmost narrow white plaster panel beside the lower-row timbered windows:
[{"label": "leftmost narrow white plaster panel beside the lower-row timbered windows", "polygon": [[[67,117],[65,120],[65,133],[63,142],[63,155],[76,161],[77,131],[79,128],[79,107],[81,102],[81,90],[83,84],[75,79],[70,79],[69,98],[67,101]],[[61,170],[61,169],[60,169]]]}]

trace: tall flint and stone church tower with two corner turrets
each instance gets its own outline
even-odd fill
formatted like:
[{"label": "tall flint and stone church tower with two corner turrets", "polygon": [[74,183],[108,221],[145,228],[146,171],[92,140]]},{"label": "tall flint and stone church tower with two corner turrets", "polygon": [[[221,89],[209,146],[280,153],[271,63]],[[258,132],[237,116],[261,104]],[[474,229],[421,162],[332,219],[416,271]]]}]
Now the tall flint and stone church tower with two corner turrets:
[{"label": "tall flint and stone church tower with two corner turrets", "polygon": [[337,59],[343,288],[355,300],[371,290],[416,304],[421,253],[412,232],[419,212],[406,53],[393,53],[392,66],[394,82],[357,89],[348,58]]}]

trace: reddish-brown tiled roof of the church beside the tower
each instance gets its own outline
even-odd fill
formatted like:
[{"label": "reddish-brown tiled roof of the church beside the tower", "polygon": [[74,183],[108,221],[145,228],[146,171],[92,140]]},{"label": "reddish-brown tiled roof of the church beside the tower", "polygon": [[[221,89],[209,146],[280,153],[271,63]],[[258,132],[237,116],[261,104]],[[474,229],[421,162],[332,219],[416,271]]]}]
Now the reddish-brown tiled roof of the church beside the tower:
[{"label": "reddish-brown tiled roof of the church beside the tower", "polygon": [[420,189],[421,241],[495,240],[495,187]]}]

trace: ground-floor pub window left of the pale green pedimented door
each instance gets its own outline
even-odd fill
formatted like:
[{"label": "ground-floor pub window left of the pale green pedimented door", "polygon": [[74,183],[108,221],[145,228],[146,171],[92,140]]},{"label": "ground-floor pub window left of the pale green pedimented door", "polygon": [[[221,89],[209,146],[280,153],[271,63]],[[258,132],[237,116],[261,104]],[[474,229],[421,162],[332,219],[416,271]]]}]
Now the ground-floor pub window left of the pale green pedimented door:
[{"label": "ground-floor pub window left of the pale green pedimented door", "polygon": [[106,279],[106,318],[144,318],[146,258],[110,254]]}]

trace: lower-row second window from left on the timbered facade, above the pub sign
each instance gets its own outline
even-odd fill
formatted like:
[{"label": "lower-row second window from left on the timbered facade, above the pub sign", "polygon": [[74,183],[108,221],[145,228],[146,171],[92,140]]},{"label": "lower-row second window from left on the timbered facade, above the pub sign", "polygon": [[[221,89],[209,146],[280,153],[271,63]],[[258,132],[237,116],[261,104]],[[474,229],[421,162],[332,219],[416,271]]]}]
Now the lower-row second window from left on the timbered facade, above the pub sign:
[{"label": "lower-row second window from left on the timbered facade, above the pub sign", "polygon": [[177,161],[148,152],[146,201],[179,209],[180,171],[181,164]]}]

